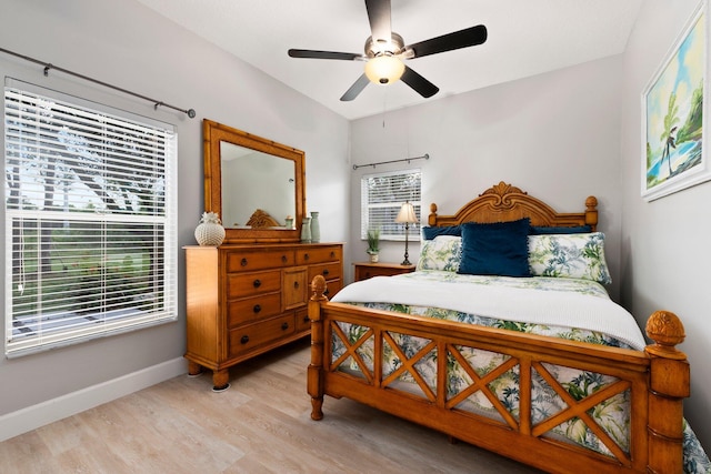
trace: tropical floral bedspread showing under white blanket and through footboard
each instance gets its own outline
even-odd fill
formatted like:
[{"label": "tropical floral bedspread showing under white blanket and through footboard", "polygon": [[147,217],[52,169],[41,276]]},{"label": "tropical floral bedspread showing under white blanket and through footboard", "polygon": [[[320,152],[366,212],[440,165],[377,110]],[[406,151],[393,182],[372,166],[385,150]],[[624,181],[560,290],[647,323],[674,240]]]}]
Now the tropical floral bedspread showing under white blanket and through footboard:
[{"label": "tropical floral bedspread showing under white blanket and through footboard", "polygon": [[[574,292],[580,294],[593,295],[603,299],[609,299],[607,291],[598,283],[587,280],[572,280],[572,279],[553,279],[553,278],[532,278],[532,279],[510,279],[500,276],[472,276],[472,275],[458,275],[453,272],[439,272],[439,271],[423,271],[415,272],[405,275],[399,275],[395,279],[401,280],[430,280],[430,281],[451,281],[452,283],[461,283],[460,276],[467,276],[469,283],[479,285],[507,285],[510,288],[522,289],[535,289],[542,292],[547,291],[563,291]],[[340,296],[337,295],[337,296]],[[539,334],[547,336],[555,336],[565,340],[589,342],[595,344],[602,344],[608,346],[617,346],[624,349],[630,347],[629,344],[621,342],[614,336],[605,334],[599,331],[590,331],[587,329],[579,329],[574,326],[564,325],[548,325],[540,323],[529,323],[523,321],[505,321],[495,317],[487,317],[478,314],[465,313],[455,310],[448,310],[445,307],[425,307],[409,305],[403,303],[372,303],[372,302],[349,302],[347,300],[334,299],[339,302],[354,304],[359,306],[394,311],[407,314],[422,315],[429,317],[437,317],[448,321],[458,321],[470,324],[479,324],[483,326],[505,329],[511,331],[525,332],[530,334]],[[444,305],[444,304],[443,304]],[[351,343],[358,341],[363,332],[364,327],[359,325],[351,325],[340,323],[342,331],[348,335]],[[400,335],[397,337],[397,344],[407,354],[418,353],[425,344],[419,337],[411,335]],[[479,375],[488,373],[488,371],[501,365],[508,357],[505,354],[492,353],[489,351],[482,351],[471,347],[461,347],[462,355],[467,359],[468,363],[477,371]],[[365,344],[361,349],[361,355],[367,361],[367,364],[372,367],[372,345]],[[337,337],[333,340],[333,360],[338,359],[346,347],[342,342]],[[383,376],[388,376],[393,373],[401,365],[399,356],[394,351],[384,346],[383,350]],[[353,370],[358,370],[356,366]],[[437,354],[430,353],[423,360],[418,362],[418,370],[423,380],[430,387],[435,386],[437,377]],[[598,374],[581,370],[573,370],[560,365],[545,365],[545,370],[549,371],[555,380],[562,384],[567,392],[575,400],[582,400],[585,396],[594,393],[595,391],[613,383],[614,377]],[[490,387],[503,404],[507,410],[518,420],[518,403],[519,403],[519,387],[518,387],[518,365],[514,369],[507,371],[501,376],[490,384]],[[448,399],[455,396],[461,391],[465,390],[471,384],[470,376],[465,373],[463,367],[457,363],[448,362]],[[413,392],[418,392],[414,380],[404,373],[399,377],[399,383],[410,384],[410,389]],[[548,385],[548,383],[540,376],[535,375],[532,383],[532,422],[535,424],[549,417],[551,414],[559,413],[565,410],[567,405],[561,397]],[[401,389],[401,387],[400,387]],[[408,389],[405,389],[408,390]],[[629,393],[622,392],[600,405],[591,410],[590,415],[594,421],[610,435],[615,443],[623,450],[628,448],[628,438],[630,430],[630,413],[629,413]],[[478,392],[474,396],[469,396],[461,406],[460,410],[469,410],[471,412],[500,418],[497,410],[487,397]],[[598,451],[600,453],[611,455],[608,447],[599,440],[587,424],[580,418],[573,418],[557,426],[549,435],[554,437],[578,443],[587,448]],[[703,447],[699,443],[695,434],[691,427],[684,421],[684,472],[685,473],[711,473],[711,462],[703,451]]]}]

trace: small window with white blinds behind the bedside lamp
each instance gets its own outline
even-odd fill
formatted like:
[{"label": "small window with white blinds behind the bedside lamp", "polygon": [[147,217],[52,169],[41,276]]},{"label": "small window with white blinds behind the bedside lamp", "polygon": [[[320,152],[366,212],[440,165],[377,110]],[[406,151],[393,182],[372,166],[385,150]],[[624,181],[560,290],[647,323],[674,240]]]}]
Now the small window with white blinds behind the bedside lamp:
[{"label": "small window with white blinds behind the bedside lamp", "polygon": [[[409,201],[414,206],[418,221],[421,209],[420,170],[368,174],[361,179],[360,236],[365,239],[369,229],[380,229],[380,240],[404,240],[404,225],[395,223],[400,206]],[[410,235],[419,234],[420,224],[410,225]]]}]

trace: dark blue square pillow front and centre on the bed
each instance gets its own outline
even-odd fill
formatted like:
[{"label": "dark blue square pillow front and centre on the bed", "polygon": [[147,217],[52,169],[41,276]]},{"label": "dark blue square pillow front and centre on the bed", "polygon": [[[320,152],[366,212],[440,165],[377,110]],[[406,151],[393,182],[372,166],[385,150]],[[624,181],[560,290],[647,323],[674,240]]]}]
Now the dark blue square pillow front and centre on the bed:
[{"label": "dark blue square pillow front and centre on the bed", "polygon": [[531,276],[528,218],[511,222],[462,224],[462,256],[458,273]]}]

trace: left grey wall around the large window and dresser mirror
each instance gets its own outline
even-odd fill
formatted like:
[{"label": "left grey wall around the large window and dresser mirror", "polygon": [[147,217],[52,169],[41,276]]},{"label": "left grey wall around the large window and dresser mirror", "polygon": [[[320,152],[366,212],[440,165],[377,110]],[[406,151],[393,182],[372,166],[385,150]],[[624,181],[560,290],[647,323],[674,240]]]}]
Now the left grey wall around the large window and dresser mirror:
[{"label": "left grey wall around the large window and dresser mirror", "polygon": [[[152,103],[59,71],[46,78],[42,65],[0,53],[0,77],[177,125],[181,246],[196,243],[193,230],[203,210],[203,118],[303,150],[307,206],[321,212],[322,241],[347,240],[349,123],[341,117],[134,1],[0,0],[0,18],[4,49],[197,111],[196,119],[156,111]],[[177,323],[16,360],[0,357],[0,440],[184,372],[186,279],[179,252]]]}]

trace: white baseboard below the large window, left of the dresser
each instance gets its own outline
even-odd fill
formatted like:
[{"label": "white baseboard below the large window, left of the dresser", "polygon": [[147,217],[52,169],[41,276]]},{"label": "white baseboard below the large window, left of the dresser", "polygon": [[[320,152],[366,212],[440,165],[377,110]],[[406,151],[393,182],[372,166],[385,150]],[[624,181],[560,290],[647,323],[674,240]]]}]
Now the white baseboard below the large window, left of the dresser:
[{"label": "white baseboard below the large window, left of the dresser", "polygon": [[0,442],[188,372],[183,357],[0,416]]}]

